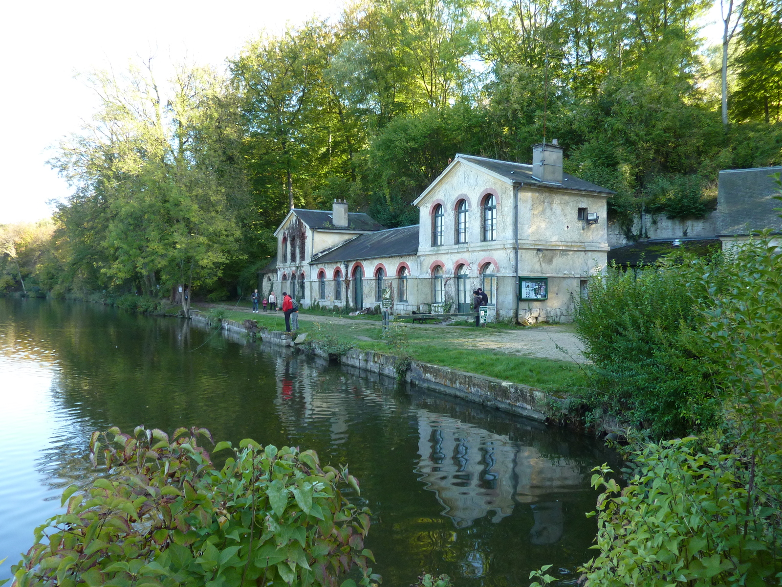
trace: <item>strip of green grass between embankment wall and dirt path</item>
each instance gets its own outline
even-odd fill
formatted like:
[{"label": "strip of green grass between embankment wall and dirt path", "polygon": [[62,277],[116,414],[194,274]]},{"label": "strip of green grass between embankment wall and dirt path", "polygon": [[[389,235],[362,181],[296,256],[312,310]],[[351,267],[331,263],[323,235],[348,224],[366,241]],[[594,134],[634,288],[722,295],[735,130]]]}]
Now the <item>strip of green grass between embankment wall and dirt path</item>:
[{"label": "strip of green grass between embankment wall and dirt path", "polygon": [[[331,313],[325,317],[329,315]],[[237,322],[257,320],[258,326],[265,326],[270,330],[285,330],[282,312],[248,315],[247,312],[228,310],[225,317]],[[341,343],[366,351],[393,352],[382,340],[382,327],[375,323],[329,324],[300,320],[299,332],[310,333],[315,340],[332,336]],[[566,391],[569,387],[580,387],[585,383],[583,372],[576,363],[465,348],[465,340],[481,336],[481,330],[475,326],[453,329],[416,326],[408,330],[407,334],[407,353],[417,361],[531,385],[547,391]]]}]

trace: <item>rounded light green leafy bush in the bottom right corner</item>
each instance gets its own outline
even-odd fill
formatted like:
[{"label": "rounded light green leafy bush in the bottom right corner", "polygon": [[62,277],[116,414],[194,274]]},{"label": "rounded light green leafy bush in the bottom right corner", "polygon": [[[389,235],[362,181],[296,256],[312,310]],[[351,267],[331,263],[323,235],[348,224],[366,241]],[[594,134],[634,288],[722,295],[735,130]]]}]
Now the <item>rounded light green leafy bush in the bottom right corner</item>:
[{"label": "rounded light green leafy bush in the bottom right corner", "polygon": [[[777,585],[780,510],[776,499],[741,483],[740,458],[695,438],[649,444],[633,453],[627,487],[598,467],[597,545],[586,585]],[[616,495],[619,494],[619,495]],[[616,495],[612,497],[612,495]],[[594,515],[594,513],[592,514]]]}]

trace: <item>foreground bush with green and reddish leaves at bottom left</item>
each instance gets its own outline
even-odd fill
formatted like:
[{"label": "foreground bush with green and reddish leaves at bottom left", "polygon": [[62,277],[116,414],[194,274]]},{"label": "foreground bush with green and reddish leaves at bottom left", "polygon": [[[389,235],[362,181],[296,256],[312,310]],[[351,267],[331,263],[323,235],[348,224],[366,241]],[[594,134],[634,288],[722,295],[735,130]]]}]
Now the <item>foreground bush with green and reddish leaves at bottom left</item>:
[{"label": "foreground bush with green and reddish leaves at bottom left", "polygon": [[359,567],[369,511],[343,496],[359,492],[346,468],[321,468],[313,451],[262,447],[245,439],[221,470],[198,438],[204,428],[137,427],[133,436],[95,432],[91,487],[63,492],[67,512],[35,531],[13,567],[31,585],[338,585]]}]

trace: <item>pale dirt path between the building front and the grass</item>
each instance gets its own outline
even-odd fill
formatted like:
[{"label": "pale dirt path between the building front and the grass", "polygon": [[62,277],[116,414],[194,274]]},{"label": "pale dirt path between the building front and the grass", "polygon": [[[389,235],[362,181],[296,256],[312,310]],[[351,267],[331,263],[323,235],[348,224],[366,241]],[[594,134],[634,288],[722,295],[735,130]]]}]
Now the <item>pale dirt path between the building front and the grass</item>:
[{"label": "pale dirt path between the building front and the grass", "polygon": [[[200,308],[226,308],[235,312],[251,313],[249,308],[231,308],[227,304],[195,304]],[[263,314],[263,312],[261,312]],[[274,315],[274,312],[267,312]],[[282,317],[282,312],[277,312]],[[321,316],[299,313],[303,322],[320,322],[321,324],[340,324],[353,326],[375,326],[376,320],[339,318],[339,316]],[[572,325],[533,326],[518,330],[474,330],[469,326],[446,326],[438,324],[415,324],[414,329],[427,330],[436,337],[443,337],[443,342],[463,348],[475,348],[485,351],[501,351],[512,355],[528,357],[554,358],[560,361],[586,362],[583,357],[583,345],[576,337]],[[372,340],[359,336],[360,340]]]}]

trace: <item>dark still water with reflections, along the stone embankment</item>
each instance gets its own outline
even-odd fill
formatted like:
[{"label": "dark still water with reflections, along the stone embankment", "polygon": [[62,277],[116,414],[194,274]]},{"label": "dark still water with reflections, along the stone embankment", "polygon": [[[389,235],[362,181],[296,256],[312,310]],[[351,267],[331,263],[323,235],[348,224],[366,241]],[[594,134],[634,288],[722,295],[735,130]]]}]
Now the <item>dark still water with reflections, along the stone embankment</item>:
[{"label": "dark still water with reflections, along the stone embankment", "polygon": [[193,425],[348,463],[384,585],[576,582],[595,533],[597,441],[176,319],[0,298],[0,578],[59,494],[89,477],[91,430]]}]

